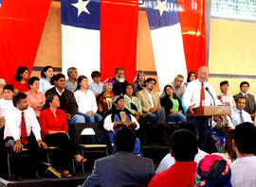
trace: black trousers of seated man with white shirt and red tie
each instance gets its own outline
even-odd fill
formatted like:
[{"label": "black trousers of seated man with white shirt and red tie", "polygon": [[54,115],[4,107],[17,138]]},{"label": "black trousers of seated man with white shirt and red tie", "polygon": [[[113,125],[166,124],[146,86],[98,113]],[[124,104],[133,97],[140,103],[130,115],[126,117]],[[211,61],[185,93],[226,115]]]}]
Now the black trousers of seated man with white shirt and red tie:
[{"label": "black trousers of seated man with white shirt and red tie", "polygon": [[[27,137],[27,144],[23,144],[25,148],[27,148],[27,152],[14,152],[13,146],[15,144],[12,137],[7,137],[5,139],[6,147],[10,151],[10,156],[13,158],[13,166],[14,172],[16,176],[23,176],[24,171],[29,170],[30,174],[35,175],[40,167],[40,162],[43,161],[44,156],[46,156],[46,152],[44,153],[44,149],[39,147],[35,136],[31,133],[30,136]],[[22,157],[24,154],[27,154],[28,161],[26,165],[26,161]]]}]

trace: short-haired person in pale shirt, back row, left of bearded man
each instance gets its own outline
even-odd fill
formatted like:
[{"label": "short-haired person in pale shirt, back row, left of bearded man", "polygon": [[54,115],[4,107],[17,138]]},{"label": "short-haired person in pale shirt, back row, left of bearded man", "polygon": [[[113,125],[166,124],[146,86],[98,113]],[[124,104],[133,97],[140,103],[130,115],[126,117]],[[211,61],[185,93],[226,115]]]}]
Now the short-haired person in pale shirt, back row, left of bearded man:
[{"label": "short-haired person in pale shirt, back row, left of bearded man", "polygon": [[95,93],[97,97],[99,94],[103,92],[103,83],[101,82],[101,73],[99,71],[94,71],[91,74],[93,82],[90,83],[89,89]]}]

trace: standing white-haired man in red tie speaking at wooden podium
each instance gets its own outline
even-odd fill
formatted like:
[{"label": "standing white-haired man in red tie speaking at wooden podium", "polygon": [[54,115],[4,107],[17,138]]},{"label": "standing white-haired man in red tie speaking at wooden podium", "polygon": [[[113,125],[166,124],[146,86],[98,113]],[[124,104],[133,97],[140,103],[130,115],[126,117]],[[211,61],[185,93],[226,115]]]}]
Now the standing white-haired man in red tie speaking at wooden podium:
[{"label": "standing white-haired man in red tie speaking at wooden podium", "polygon": [[[209,69],[202,66],[198,69],[198,78],[190,82],[184,95],[183,104],[192,113],[193,108],[221,105],[210,83],[207,82]],[[210,116],[188,116],[187,121],[194,123],[198,129],[198,146],[211,153],[211,120]]]}]

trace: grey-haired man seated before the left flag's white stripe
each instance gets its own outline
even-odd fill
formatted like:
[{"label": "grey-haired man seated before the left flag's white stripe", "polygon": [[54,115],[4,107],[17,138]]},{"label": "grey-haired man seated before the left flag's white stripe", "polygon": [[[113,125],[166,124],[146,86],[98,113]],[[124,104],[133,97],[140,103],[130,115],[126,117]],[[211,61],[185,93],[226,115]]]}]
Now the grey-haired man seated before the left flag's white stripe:
[{"label": "grey-haired man seated before the left flag's white stripe", "polygon": [[75,67],[70,67],[67,69],[68,78],[65,80],[65,89],[74,93],[78,87],[78,70]]}]

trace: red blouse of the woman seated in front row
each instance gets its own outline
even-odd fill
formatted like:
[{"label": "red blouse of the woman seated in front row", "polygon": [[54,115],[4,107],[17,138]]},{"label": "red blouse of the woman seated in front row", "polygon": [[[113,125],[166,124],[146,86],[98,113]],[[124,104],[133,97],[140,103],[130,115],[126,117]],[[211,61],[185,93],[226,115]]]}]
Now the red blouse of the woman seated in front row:
[{"label": "red blouse of the woman seated in front row", "polygon": [[49,134],[49,130],[64,130],[68,129],[64,110],[56,110],[56,118],[50,109],[40,112],[39,124],[41,126],[41,136],[45,137]]}]

